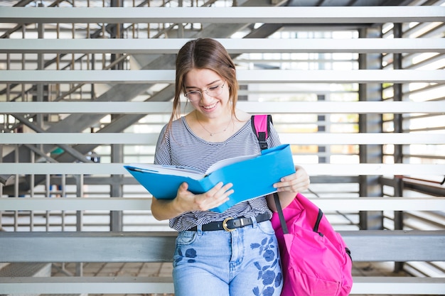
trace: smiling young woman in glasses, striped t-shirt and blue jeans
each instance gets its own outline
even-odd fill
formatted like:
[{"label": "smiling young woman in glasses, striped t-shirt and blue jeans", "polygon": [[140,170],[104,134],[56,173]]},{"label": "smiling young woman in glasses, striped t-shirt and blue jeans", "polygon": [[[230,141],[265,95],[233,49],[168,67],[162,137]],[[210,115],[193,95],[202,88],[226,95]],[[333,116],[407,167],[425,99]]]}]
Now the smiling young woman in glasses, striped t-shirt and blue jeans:
[{"label": "smiling young woman in glasses, striped t-shirt and blue jeans", "polygon": [[[155,163],[181,165],[205,172],[218,160],[260,153],[250,114],[236,108],[235,64],[218,41],[191,40],[178,52],[176,93],[171,119],[156,146]],[[193,111],[179,118],[180,96]],[[280,144],[271,126],[268,146]],[[283,207],[309,187],[306,171],[283,176],[274,184]],[[153,199],[156,219],[170,219],[178,231],[173,258],[176,296],[279,295],[282,273],[274,229],[272,196],[240,202],[223,213],[218,207],[232,194],[232,184],[220,183],[193,194],[183,183],[175,199]]]}]

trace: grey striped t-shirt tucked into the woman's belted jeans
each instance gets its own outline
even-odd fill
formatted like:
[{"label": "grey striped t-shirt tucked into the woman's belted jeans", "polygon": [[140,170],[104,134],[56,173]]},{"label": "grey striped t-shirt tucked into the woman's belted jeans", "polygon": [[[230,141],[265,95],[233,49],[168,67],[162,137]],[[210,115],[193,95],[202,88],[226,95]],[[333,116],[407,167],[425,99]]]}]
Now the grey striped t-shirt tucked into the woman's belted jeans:
[{"label": "grey striped t-shirt tucked into the woman's belted jeans", "polygon": [[[250,120],[242,126],[240,131],[237,131],[227,140],[218,143],[208,142],[196,136],[187,125],[184,117],[173,121],[168,135],[164,136],[165,132],[166,126],[163,127],[156,145],[155,164],[179,165],[195,168],[204,173],[210,165],[213,165],[218,160],[261,153],[258,139],[252,130]],[[270,126],[267,144],[269,148],[280,145],[278,133],[272,125]],[[264,171],[264,174],[267,174],[267,171]],[[211,211],[185,212],[170,219],[169,225],[176,231],[184,231],[196,225],[207,224],[212,221],[223,221],[227,217],[245,216],[252,218],[257,216],[257,214],[266,212],[269,212],[272,216],[272,212],[267,207],[265,197],[258,197],[235,204],[223,213]]]}]

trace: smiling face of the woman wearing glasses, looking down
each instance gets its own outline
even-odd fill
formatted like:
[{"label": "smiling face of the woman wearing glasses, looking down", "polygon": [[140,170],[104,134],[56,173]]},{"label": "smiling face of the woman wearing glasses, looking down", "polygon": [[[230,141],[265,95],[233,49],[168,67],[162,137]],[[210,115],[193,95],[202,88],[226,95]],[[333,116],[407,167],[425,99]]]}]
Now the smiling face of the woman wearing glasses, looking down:
[{"label": "smiling face of the woman wearing glasses, looking down", "polygon": [[201,92],[201,96],[198,92],[188,96],[189,102],[200,114],[208,118],[216,118],[230,111],[227,81],[213,70],[193,69],[189,71],[184,77],[184,87],[186,93]]}]

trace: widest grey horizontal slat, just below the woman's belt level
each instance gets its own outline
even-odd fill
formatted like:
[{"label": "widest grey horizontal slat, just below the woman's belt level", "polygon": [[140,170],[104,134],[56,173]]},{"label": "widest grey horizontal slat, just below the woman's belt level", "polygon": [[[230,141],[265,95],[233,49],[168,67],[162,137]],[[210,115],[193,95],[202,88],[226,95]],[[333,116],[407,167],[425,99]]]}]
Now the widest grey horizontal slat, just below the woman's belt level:
[{"label": "widest grey horizontal slat, just below the woman's belt level", "polygon": [[[338,232],[352,250],[355,262],[445,260],[442,230]],[[3,232],[0,262],[171,262],[176,235],[173,230]],[[48,252],[48,246],[58,248],[49,247]],[[425,246],[434,248],[425,252]]]}]

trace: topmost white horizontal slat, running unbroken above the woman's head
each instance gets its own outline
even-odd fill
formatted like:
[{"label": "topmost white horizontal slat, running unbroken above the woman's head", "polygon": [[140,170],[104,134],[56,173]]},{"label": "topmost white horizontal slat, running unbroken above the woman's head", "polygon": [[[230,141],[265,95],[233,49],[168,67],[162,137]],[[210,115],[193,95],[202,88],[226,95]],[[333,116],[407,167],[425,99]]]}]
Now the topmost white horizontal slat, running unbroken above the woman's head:
[{"label": "topmost white horizontal slat, running unbroken above the woman's head", "polygon": [[3,7],[3,23],[404,23],[443,21],[444,6]]}]

